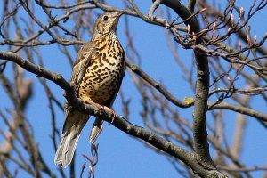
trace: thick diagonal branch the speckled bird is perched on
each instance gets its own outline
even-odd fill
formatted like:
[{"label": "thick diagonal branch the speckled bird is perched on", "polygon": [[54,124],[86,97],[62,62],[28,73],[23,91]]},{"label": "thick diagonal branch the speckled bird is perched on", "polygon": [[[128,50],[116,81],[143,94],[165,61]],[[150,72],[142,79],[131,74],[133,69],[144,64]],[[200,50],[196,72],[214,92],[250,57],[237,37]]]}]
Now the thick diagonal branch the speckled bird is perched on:
[{"label": "thick diagonal branch the speckled bird is perched on", "polygon": [[159,150],[165,151],[166,153],[172,155],[174,158],[182,160],[182,162],[190,166],[196,174],[202,177],[207,177],[208,175],[213,174],[207,171],[203,166],[201,166],[194,158],[194,154],[190,154],[189,151],[182,149],[172,142],[166,141],[165,139],[159,137],[156,134],[153,134],[152,132],[142,127],[129,123],[123,117],[119,117],[117,115],[114,116],[114,112],[110,109],[101,109],[101,107],[94,103],[85,104],[83,101],[77,98],[77,96],[73,92],[71,85],[69,85],[69,83],[63,77],[61,77],[60,74],[54,73],[44,68],[40,68],[35,64],[24,60],[17,53],[0,52],[0,59],[13,61],[16,64],[20,65],[20,67],[22,67],[23,69],[26,69],[39,77],[44,77],[48,80],[53,81],[53,83],[59,85],[62,89],[65,90],[65,97],[68,100],[68,104],[75,109],[85,112],[86,114],[93,115],[95,117],[101,117],[126,134],[138,137],[144,142],[150,143]]}]

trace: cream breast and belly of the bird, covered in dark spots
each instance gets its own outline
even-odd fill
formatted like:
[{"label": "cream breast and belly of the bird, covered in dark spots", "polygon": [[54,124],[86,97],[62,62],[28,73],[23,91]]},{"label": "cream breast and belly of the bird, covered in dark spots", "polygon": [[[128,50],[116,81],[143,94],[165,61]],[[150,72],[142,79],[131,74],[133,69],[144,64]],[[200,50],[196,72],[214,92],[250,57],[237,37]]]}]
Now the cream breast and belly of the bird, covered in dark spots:
[{"label": "cream breast and belly of the bird, covered in dark spots", "polygon": [[124,77],[125,54],[117,37],[97,41],[95,46],[91,63],[80,85],[79,96],[84,101],[106,104],[112,101],[111,97],[117,93]]}]

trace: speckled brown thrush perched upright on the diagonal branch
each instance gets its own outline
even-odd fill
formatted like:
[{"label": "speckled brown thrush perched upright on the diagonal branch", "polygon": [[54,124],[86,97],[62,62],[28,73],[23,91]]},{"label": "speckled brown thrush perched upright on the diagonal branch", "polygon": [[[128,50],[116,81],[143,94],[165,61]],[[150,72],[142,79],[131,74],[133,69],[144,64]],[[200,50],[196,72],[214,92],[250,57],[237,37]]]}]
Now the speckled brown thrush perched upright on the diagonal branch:
[{"label": "speckled brown thrush perched upright on the diagonal branch", "polygon": [[[117,38],[117,24],[125,12],[105,12],[94,23],[93,36],[77,53],[70,84],[85,103],[112,107],[125,76],[125,52]],[[67,167],[72,161],[79,135],[89,115],[71,108],[66,101],[65,122],[54,162]],[[96,117],[89,142],[101,133],[103,120]]]}]

